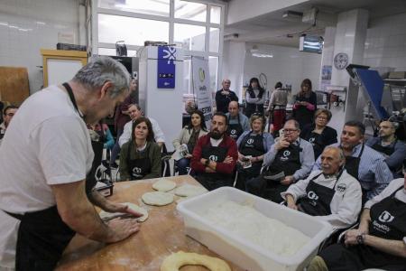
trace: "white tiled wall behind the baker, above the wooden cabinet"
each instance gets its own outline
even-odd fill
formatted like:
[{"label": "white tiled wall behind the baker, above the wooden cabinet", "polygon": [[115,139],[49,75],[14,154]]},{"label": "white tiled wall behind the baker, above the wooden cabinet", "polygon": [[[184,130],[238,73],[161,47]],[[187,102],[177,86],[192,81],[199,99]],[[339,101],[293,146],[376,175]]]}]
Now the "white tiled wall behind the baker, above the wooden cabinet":
[{"label": "white tiled wall behind the baker, above the wooden cabinet", "polygon": [[59,33],[84,43],[78,22],[77,0],[1,0],[0,66],[28,68],[30,92],[41,89],[40,49],[56,49]]}]

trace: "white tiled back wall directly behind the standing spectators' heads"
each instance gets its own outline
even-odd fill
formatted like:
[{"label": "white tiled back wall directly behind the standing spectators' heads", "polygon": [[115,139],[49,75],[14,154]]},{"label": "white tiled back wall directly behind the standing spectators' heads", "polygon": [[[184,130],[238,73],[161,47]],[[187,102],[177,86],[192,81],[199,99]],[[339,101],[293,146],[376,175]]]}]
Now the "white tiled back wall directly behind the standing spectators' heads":
[{"label": "white tiled back wall directly behind the standing spectators' heads", "polygon": [[268,79],[268,88],[273,89],[276,82],[290,84],[292,94],[300,89],[303,79],[309,78],[313,89],[319,85],[321,54],[299,51],[297,48],[256,44],[261,53],[272,54],[272,58],[258,58],[251,53],[252,43],[246,44],[244,82],[264,73]]}]

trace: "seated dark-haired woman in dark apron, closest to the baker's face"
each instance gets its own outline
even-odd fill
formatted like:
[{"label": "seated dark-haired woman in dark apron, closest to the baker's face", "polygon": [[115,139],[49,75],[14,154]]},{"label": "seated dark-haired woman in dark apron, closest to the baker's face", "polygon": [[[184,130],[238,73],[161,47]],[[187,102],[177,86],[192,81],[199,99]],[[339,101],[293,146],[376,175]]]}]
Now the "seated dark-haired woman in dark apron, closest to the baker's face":
[{"label": "seated dark-haired woman in dark apron, closest to the baker's face", "polygon": [[161,147],[153,142],[151,121],[138,117],[131,134],[120,152],[121,181],[161,177]]}]

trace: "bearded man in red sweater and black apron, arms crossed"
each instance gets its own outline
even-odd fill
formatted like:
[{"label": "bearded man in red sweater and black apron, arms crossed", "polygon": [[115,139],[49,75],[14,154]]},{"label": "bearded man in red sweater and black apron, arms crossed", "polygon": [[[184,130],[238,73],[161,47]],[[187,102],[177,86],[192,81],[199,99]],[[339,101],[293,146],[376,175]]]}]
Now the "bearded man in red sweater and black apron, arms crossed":
[{"label": "bearded man in red sweater and black apron, arms crossed", "polygon": [[193,150],[191,168],[195,179],[209,191],[233,184],[238,159],[235,140],[226,135],[227,117],[217,112],[211,119],[210,133],[198,138]]}]

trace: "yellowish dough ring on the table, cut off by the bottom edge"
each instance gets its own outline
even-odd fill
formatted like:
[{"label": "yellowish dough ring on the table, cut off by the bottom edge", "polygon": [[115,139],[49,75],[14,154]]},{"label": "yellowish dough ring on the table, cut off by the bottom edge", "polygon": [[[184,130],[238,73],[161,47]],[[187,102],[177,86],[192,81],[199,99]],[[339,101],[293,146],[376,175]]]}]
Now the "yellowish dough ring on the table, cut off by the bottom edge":
[{"label": "yellowish dough ring on the table, cut off by the bottom edge", "polygon": [[211,271],[231,271],[230,266],[218,257],[208,257],[183,251],[166,257],[162,262],[161,271],[178,271],[181,266],[205,266]]}]

